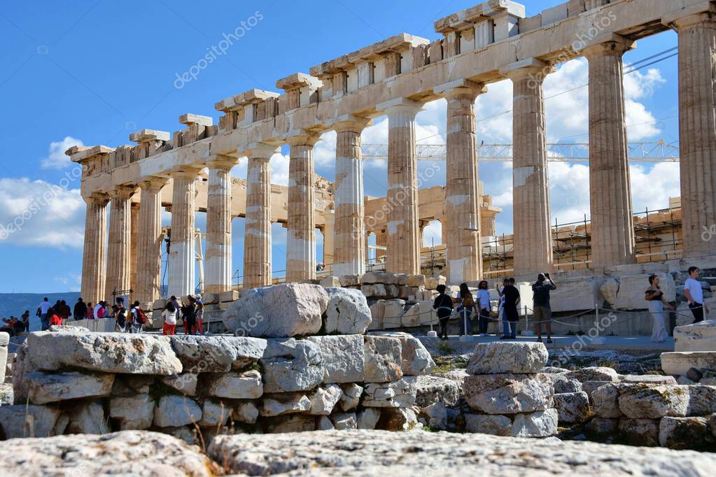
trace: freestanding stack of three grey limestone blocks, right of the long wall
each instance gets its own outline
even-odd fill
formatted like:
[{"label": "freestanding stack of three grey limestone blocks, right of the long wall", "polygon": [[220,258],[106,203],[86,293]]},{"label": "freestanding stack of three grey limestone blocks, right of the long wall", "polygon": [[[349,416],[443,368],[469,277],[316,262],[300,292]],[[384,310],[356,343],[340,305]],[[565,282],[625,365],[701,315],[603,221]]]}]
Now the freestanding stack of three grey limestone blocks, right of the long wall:
[{"label": "freestanding stack of three grey limestone blocks, right of the long wall", "polygon": [[547,437],[557,432],[552,380],[542,343],[480,343],[468,363],[463,394],[473,413],[465,431],[496,436]]}]

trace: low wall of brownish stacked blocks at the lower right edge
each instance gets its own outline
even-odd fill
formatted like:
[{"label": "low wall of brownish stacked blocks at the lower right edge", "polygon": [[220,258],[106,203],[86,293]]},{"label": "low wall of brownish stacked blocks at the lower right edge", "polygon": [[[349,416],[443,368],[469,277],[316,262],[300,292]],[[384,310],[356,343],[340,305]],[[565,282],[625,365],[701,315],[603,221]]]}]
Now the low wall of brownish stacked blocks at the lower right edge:
[{"label": "low wall of brownish stacked blocks at the lower right edge", "polygon": [[593,431],[637,446],[716,451],[714,386],[614,382],[596,388],[591,400]]}]

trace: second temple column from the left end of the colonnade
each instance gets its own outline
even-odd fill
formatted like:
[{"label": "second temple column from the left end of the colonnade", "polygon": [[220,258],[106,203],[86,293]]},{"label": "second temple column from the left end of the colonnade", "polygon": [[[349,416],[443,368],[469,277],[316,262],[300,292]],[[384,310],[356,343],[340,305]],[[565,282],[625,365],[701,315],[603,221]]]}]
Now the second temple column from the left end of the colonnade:
[{"label": "second temple column from the left end of the colonnade", "polygon": [[[119,186],[110,191],[110,240],[107,247],[105,299],[112,303],[112,292],[130,289],[132,212],[130,197],[134,187]],[[126,303],[125,303],[126,305]]]}]

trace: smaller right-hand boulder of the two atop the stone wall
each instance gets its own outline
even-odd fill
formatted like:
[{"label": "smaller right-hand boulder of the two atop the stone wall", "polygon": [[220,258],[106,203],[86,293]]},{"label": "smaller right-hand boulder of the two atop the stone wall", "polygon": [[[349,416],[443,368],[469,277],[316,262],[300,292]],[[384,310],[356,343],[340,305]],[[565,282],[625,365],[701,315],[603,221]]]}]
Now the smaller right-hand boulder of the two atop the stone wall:
[{"label": "smaller right-hand boulder of the two atop the stone wall", "polygon": [[326,333],[362,335],[371,323],[370,308],[360,290],[352,288],[326,288]]}]

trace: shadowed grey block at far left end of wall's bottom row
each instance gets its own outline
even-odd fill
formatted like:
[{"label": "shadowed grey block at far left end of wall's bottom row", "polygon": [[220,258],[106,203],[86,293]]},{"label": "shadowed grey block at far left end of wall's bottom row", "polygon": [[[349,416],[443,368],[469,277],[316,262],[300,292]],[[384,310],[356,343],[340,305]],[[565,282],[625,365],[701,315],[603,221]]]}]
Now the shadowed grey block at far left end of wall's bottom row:
[{"label": "shadowed grey block at far left end of wall's bottom row", "polygon": [[[62,434],[67,426],[64,423],[64,426],[57,428],[60,414],[59,409],[47,405],[3,405],[0,406],[0,431],[6,439],[55,436]],[[0,446],[0,453],[2,448]],[[7,461],[4,461],[4,465],[7,465]]]}]

